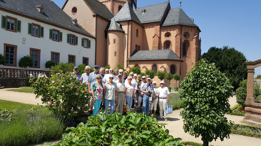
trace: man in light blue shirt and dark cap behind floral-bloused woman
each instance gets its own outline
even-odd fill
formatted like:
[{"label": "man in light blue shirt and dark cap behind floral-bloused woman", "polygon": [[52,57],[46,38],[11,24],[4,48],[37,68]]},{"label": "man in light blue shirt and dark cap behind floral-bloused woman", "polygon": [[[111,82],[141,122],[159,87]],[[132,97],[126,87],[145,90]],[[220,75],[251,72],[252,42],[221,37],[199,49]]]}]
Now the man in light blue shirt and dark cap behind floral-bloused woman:
[{"label": "man in light blue shirt and dark cap behind floral-bloused woman", "polygon": [[[92,73],[90,73],[89,77],[88,77],[89,93],[91,93],[92,84],[96,81],[96,75],[100,74],[98,71],[99,71],[99,66],[98,65],[94,65],[94,71]],[[102,84],[101,81],[100,81],[100,83]],[[93,111],[93,102],[92,102],[92,100],[90,100],[89,102],[90,102],[89,103],[89,105],[90,105],[89,114],[91,115],[92,111]]]}]

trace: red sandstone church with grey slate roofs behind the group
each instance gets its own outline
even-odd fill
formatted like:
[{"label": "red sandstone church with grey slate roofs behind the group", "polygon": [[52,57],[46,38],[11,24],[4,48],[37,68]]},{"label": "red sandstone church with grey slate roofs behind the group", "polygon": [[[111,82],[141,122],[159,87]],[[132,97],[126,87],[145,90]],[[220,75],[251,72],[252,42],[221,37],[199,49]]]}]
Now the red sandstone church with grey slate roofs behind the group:
[{"label": "red sandstone church with grey slate roofs behind the group", "polygon": [[182,79],[201,57],[201,30],[170,1],[138,8],[137,0],[66,0],[62,9],[96,37],[99,66],[140,66]]}]

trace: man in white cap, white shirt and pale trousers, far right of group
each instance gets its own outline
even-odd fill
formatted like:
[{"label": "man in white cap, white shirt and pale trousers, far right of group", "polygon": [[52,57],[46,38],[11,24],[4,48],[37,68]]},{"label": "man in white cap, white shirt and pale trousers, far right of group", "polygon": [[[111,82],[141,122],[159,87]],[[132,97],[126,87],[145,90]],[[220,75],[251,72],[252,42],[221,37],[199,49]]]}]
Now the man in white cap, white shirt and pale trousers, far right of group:
[{"label": "man in white cap, white shirt and pale trousers, far right of group", "polygon": [[163,116],[163,112],[164,112],[165,121],[168,121],[165,107],[169,103],[170,92],[169,92],[169,89],[167,87],[165,87],[164,81],[160,82],[160,87],[158,88],[157,96],[159,97],[160,117],[163,118],[162,116]]}]

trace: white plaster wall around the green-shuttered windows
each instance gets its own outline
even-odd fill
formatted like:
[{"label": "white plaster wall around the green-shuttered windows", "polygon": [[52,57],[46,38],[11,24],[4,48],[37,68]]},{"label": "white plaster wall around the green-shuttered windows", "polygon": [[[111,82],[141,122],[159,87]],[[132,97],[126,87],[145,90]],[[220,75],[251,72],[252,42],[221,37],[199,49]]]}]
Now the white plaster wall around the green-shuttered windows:
[{"label": "white plaster wall around the green-shuttered windows", "polygon": [[[0,11],[0,21],[1,15],[10,16],[21,20],[21,32],[11,32],[0,28],[0,54],[4,53],[4,43],[17,45],[17,60],[16,67],[14,66],[3,66],[8,68],[23,68],[19,67],[19,59],[24,56],[30,56],[30,48],[41,50],[41,60],[40,68],[30,68],[28,69],[39,69],[39,70],[49,70],[45,68],[45,62],[51,59],[51,51],[60,53],[60,62],[68,62],[68,54],[76,56],[76,65],[83,63],[83,57],[89,58],[89,65],[94,66],[95,62],[95,39],[87,37],[82,34],[78,34],[66,29],[60,29],[48,24],[38,22],[36,20],[28,19],[22,16],[18,16],[5,11]],[[44,37],[34,37],[28,34],[28,23],[35,23],[44,27]],[[1,24],[1,23],[0,23]],[[72,23],[73,25],[73,23]],[[62,32],[62,42],[56,42],[49,39],[49,29],[57,29]],[[70,45],[67,43],[67,33],[74,34],[78,36],[78,45]],[[90,49],[82,47],[82,38],[85,37],[91,41]],[[25,44],[23,44],[23,38],[26,39]]]}]

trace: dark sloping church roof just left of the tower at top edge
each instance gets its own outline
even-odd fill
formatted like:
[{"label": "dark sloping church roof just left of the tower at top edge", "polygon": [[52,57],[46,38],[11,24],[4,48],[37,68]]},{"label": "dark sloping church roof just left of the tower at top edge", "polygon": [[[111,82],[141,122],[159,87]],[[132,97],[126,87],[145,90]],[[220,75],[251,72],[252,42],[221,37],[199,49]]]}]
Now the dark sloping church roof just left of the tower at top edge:
[{"label": "dark sloping church roof just left of the tower at top edge", "polygon": [[99,2],[98,0],[85,0],[85,1],[87,2],[89,7],[95,14],[107,20],[111,20],[112,17],[114,16],[112,12],[108,9],[108,7],[105,4]]}]

